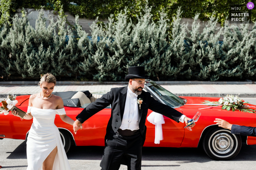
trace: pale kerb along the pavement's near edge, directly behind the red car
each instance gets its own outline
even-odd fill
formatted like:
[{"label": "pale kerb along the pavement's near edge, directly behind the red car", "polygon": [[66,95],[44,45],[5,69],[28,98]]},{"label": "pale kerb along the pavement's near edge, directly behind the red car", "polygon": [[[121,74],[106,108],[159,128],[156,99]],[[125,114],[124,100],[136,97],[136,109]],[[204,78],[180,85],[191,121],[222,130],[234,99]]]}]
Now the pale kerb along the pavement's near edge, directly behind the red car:
[{"label": "pale kerb along the pavement's near edge, directly behind the red car", "polygon": [[[14,94],[16,96],[22,96],[22,95],[31,95],[35,93],[20,93],[20,94]],[[246,98],[256,98],[256,93],[181,93],[181,94],[174,94],[176,96],[189,96],[189,97],[225,97],[227,94],[230,95],[237,95],[239,97],[246,97]],[[0,94],[0,98],[6,98],[8,94]]]}]

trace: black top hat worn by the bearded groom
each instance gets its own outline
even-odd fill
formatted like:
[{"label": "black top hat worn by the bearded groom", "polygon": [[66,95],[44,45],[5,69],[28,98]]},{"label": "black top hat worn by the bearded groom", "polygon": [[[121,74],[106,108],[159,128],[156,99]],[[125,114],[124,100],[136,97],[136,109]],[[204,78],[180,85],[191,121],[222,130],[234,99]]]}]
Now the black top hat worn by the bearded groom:
[{"label": "black top hat worn by the bearded groom", "polygon": [[128,75],[125,76],[125,80],[129,79],[149,79],[149,76],[145,75],[145,67],[135,66],[128,68]]}]

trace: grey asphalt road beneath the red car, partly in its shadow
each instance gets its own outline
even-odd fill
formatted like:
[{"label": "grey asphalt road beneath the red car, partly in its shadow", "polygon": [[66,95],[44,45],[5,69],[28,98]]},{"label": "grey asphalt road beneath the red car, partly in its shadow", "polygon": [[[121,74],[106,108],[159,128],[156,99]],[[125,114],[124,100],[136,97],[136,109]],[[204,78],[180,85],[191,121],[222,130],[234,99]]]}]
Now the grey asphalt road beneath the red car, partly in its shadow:
[{"label": "grey asphalt road beneath the red car, partly in its shadow", "polygon": [[[72,170],[100,170],[103,147],[71,146],[67,153]],[[26,141],[0,140],[0,165],[3,170],[26,170]],[[242,144],[240,153],[230,161],[215,161],[201,148],[144,147],[142,170],[245,170],[256,165],[256,146]],[[127,169],[122,165],[120,170]]]}]

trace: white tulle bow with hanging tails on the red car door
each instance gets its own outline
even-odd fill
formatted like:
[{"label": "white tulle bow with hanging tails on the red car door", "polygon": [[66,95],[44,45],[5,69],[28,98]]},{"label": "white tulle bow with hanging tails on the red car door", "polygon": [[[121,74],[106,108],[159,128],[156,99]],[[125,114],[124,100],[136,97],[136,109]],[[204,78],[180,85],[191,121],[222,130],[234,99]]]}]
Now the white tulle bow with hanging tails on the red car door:
[{"label": "white tulle bow with hanging tails on the red car door", "polygon": [[152,112],[147,117],[148,122],[155,124],[155,144],[159,144],[160,141],[163,140],[163,130],[162,130],[162,124],[165,123],[165,119],[163,118],[163,115]]}]

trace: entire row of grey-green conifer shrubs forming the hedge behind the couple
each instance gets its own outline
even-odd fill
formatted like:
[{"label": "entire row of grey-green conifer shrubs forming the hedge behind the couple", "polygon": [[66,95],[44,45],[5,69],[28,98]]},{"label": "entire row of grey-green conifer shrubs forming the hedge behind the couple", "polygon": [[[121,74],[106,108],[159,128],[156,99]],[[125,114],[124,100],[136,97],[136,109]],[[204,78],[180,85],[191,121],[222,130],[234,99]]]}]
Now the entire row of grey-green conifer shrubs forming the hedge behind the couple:
[{"label": "entire row of grey-green conifer shrubs forming the hedge behind the couple", "polygon": [[[66,28],[61,16],[46,28],[43,12],[35,28],[26,15],[16,15],[13,25],[1,28],[0,70],[4,75],[26,78],[51,72],[70,79],[122,81],[128,67],[145,66],[153,80],[256,80],[256,24],[251,32],[248,24],[241,24],[241,29],[227,24],[219,29],[218,18],[211,16],[199,33],[199,13],[188,30],[180,23],[181,8],[170,26],[165,11],[154,22],[151,7],[146,6],[144,14],[136,16],[136,24],[127,9],[116,17],[111,15],[104,27],[96,20],[89,37],[79,26],[78,16],[74,29]],[[172,30],[172,39],[168,39],[168,30]]]}]

